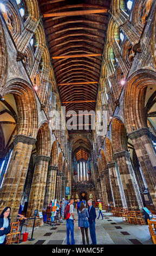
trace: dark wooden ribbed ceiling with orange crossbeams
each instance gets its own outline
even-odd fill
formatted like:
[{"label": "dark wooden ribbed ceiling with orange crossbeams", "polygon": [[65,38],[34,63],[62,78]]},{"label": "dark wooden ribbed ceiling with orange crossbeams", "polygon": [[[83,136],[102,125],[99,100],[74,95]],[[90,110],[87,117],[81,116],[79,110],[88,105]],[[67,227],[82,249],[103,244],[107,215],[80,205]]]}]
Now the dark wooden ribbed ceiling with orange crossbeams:
[{"label": "dark wooden ribbed ceiling with orange crossbeams", "polygon": [[[66,106],[66,113],[95,110],[111,1],[38,3],[62,106]],[[89,115],[89,125],[90,120]]]}]

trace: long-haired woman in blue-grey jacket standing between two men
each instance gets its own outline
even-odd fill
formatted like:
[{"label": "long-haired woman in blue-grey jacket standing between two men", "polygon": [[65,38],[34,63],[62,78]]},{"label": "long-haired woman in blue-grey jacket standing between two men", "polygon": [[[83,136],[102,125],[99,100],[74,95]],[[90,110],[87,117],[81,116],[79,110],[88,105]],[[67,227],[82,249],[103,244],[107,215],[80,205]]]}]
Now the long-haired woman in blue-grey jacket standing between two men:
[{"label": "long-haired woman in blue-grey jacket standing between two men", "polygon": [[[89,222],[88,222],[88,218],[89,218],[88,211],[85,208],[85,204],[82,202],[81,205],[80,205],[80,209],[78,211],[78,225],[79,225],[79,229],[81,229],[83,245],[85,245],[85,234],[86,234],[87,245],[89,245],[89,238],[88,238]],[[85,229],[85,231],[84,231],[84,229]]]}]

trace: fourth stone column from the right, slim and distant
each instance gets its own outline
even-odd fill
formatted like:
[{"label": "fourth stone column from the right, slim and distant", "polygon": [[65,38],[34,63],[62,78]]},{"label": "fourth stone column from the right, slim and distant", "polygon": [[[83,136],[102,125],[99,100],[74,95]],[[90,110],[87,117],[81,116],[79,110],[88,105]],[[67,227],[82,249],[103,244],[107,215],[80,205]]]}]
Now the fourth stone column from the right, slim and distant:
[{"label": "fourth stone column from the right, slim and distant", "polygon": [[108,204],[110,204],[111,206],[115,206],[112,185],[109,178],[109,170],[108,169],[102,170],[102,174],[103,174],[103,183],[106,185]]}]

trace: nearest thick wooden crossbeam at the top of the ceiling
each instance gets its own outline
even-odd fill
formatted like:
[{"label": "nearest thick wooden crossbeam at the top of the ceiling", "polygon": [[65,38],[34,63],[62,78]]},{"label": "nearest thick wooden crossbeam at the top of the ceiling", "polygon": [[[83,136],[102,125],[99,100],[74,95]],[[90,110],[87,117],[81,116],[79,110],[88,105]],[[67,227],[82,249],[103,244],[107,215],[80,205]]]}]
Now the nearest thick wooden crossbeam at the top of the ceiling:
[{"label": "nearest thick wooden crossbeam at the top of the ceiling", "polygon": [[43,17],[58,17],[58,16],[77,16],[77,15],[89,15],[89,14],[99,14],[108,13],[108,8],[94,9],[94,10],[79,10],[79,11],[62,11],[61,13],[44,13]]}]

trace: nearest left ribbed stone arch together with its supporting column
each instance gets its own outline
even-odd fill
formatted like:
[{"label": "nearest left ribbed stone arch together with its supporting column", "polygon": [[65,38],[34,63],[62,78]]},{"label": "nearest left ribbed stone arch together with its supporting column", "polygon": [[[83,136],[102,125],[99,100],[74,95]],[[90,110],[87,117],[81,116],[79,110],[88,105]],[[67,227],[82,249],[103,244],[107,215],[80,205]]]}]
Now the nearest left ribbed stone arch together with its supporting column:
[{"label": "nearest left ribbed stone arch together with its supporting column", "polygon": [[13,142],[14,149],[0,192],[1,208],[6,205],[10,206],[11,218],[15,221],[22,199],[32,145],[36,142],[37,104],[31,85],[21,79],[7,82],[1,94],[2,96],[13,94],[17,106],[17,135]]}]

